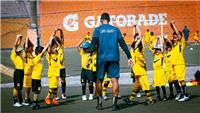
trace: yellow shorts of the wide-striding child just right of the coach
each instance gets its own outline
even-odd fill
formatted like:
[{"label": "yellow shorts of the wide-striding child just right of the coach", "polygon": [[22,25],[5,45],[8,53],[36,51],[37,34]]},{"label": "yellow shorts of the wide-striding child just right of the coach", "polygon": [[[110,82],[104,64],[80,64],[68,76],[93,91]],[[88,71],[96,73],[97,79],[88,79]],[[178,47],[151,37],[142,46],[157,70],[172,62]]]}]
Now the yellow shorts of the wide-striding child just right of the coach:
[{"label": "yellow shorts of the wide-striding child just right of the coach", "polygon": [[150,90],[149,80],[147,75],[136,77],[135,83],[136,84],[138,83],[140,85],[142,91]]}]

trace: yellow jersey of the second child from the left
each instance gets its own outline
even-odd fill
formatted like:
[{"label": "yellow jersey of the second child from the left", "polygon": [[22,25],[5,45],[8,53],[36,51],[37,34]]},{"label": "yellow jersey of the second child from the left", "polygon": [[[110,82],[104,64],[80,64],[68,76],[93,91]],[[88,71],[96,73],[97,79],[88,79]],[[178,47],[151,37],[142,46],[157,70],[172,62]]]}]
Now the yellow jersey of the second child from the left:
[{"label": "yellow jersey of the second child from the left", "polygon": [[32,60],[34,57],[31,53],[26,52],[23,52],[22,56],[24,58],[24,74],[31,75],[33,70]]}]

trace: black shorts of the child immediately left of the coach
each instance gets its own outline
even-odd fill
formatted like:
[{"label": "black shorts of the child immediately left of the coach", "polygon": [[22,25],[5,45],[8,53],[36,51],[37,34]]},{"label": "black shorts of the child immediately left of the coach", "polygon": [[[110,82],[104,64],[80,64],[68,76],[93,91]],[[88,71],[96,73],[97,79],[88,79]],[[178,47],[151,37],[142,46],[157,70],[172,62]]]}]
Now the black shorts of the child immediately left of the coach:
[{"label": "black shorts of the child immediately left of the coach", "polygon": [[92,81],[92,82],[94,82],[93,71],[82,68],[82,70],[81,70],[81,82],[82,81]]}]

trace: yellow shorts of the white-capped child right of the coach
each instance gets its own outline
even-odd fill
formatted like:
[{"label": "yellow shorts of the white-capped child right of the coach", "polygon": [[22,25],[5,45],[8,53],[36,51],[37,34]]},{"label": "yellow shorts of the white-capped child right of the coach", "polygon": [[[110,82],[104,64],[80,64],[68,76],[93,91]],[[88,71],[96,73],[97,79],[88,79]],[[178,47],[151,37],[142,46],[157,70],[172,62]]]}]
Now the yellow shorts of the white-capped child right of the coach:
[{"label": "yellow shorts of the white-capped child right of the coach", "polygon": [[153,70],[153,86],[165,86],[167,83],[164,69]]}]

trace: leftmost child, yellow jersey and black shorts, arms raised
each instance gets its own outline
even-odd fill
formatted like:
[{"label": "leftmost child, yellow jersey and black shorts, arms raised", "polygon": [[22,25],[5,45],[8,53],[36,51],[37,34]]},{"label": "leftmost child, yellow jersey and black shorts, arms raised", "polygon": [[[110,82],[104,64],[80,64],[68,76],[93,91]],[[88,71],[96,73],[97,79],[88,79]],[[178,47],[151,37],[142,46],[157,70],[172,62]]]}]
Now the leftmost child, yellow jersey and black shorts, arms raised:
[{"label": "leftmost child, yellow jersey and black shorts, arms raised", "polygon": [[23,79],[24,79],[24,63],[22,60],[22,50],[23,48],[20,46],[22,40],[22,35],[17,35],[15,45],[11,52],[10,58],[15,65],[15,71],[13,75],[14,80],[14,88],[13,88],[13,99],[14,99],[14,107],[22,106],[22,87],[23,87]]}]

